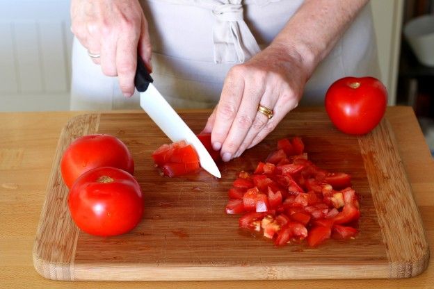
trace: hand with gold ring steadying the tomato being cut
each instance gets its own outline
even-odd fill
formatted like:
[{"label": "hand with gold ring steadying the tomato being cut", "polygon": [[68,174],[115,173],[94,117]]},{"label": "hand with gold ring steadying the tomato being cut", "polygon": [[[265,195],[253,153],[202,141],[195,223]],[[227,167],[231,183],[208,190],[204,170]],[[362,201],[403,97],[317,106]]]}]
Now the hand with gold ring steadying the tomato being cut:
[{"label": "hand with gold ring steadying the tomato being cut", "polygon": [[[241,156],[257,145],[296,108],[310,76],[303,58],[288,47],[271,44],[246,63],[228,72],[220,101],[204,132],[211,133],[214,149],[223,161]],[[271,118],[258,106],[273,111]]]}]

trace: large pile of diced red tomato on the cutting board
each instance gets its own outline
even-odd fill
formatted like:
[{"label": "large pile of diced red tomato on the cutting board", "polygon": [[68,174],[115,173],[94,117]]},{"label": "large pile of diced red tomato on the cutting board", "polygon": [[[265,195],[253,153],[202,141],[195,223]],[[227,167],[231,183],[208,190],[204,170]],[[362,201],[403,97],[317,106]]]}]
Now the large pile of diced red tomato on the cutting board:
[{"label": "large pile of diced red tomato on the cutting board", "polygon": [[239,226],[275,245],[357,236],[359,201],[351,176],[321,170],[307,159],[301,138],[278,141],[252,173],[240,172],[229,192],[227,214],[243,214]]}]

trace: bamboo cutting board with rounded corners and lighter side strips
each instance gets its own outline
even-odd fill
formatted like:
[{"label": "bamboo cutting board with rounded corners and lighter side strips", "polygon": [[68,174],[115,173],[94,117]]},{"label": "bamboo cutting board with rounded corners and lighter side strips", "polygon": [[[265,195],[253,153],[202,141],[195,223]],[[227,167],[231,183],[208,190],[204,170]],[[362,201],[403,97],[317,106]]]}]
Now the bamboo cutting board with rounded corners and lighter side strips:
[{"label": "bamboo cutting board with rounded corners and lighter side strips", "polygon": [[[196,133],[208,113],[182,113]],[[75,138],[109,133],[129,147],[145,195],[143,220],[122,236],[100,238],[77,229],[67,209],[59,163]],[[361,197],[360,235],[317,248],[274,247],[238,228],[225,214],[227,190],[240,170],[252,171],[280,138],[299,135],[319,167],[351,174]],[[61,133],[33,248],[35,270],[56,280],[251,280],[404,278],[423,272],[429,250],[418,208],[387,119],[362,137],[345,135],[323,112],[294,111],[266,140],[230,163],[221,179],[200,170],[159,175],[154,149],[169,140],[145,113],[88,114]]]}]

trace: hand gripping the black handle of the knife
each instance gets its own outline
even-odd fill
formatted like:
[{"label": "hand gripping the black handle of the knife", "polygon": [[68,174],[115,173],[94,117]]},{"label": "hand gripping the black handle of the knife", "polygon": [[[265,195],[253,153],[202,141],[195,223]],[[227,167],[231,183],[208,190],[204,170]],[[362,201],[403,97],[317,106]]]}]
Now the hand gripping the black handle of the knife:
[{"label": "hand gripping the black handle of the knife", "polygon": [[147,21],[138,0],[72,0],[71,31],[107,76],[118,76],[126,97],[134,94],[137,56],[151,67]]}]

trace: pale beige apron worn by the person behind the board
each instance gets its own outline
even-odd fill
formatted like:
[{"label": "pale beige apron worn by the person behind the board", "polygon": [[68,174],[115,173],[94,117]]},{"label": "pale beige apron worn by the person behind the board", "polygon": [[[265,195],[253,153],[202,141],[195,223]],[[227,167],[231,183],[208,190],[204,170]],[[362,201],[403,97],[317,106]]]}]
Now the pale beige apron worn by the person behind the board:
[{"label": "pale beige apron worn by the person behind the board", "polygon": [[[213,108],[225,76],[266,47],[303,0],[143,0],[152,41],[154,85],[176,108]],[[294,72],[297,73],[297,72]],[[371,8],[366,6],[316,68],[300,104],[323,105],[344,76],[380,78]],[[139,108],[138,93],[122,95],[79,41],[72,50],[72,110]]]}]

